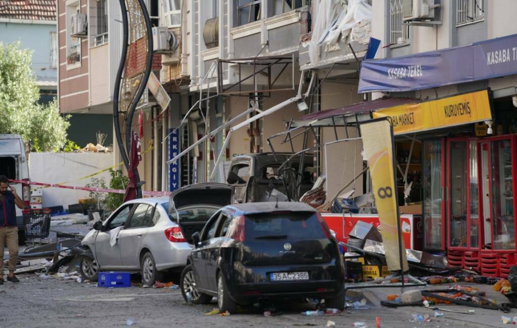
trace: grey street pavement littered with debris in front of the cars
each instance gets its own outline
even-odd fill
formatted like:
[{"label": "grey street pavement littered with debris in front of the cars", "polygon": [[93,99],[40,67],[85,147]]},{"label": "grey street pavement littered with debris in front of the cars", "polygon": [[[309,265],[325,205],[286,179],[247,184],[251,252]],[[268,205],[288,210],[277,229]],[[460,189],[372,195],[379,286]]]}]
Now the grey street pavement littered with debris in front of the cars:
[{"label": "grey street pavement littered with debris in front of the cars", "polygon": [[[204,315],[216,308],[215,299],[209,305],[187,305],[179,290],[153,289],[133,286],[105,289],[95,284],[77,283],[62,278],[41,278],[37,274],[20,275],[21,283],[6,282],[0,286],[0,327],[117,327],[133,320],[133,327],[296,327],[325,326],[328,320],[337,327],[352,327],[354,322],[366,322],[375,327],[375,317],[382,327],[505,327],[501,313],[475,309],[475,315],[444,312],[440,318],[434,311],[422,307],[397,309],[378,305],[389,293],[400,292],[389,288],[365,291],[371,301],[369,309],[348,309],[335,316],[305,317],[301,311],[310,304],[281,304],[277,310],[283,315],[264,317],[263,308],[246,309],[242,314]],[[491,286],[476,285],[490,291]],[[445,286],[440,285],[440,288]],[[484,290],[483,289],[483,290]],[[489,296],[493,297],[492,290]],[[495,295],[497,296],[497,295]],[[499,297],[499,296],[498,296]],[[500,296],[502,297],[502,296]],[[504,298],[498,298],[504,301]],[[454,310],[470,308],[443,305]],[[412,322],[412,314],[429,314],[431,322]],[[508,316],[517,316],[513,310]]]}]

